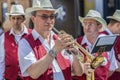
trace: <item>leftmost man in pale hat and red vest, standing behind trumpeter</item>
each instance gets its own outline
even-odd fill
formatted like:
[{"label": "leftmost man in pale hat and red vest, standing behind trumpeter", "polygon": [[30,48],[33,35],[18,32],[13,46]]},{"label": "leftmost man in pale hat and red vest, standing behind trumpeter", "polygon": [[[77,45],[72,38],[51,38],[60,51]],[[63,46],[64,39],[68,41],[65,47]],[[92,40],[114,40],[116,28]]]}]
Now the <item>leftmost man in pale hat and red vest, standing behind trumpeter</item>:
[{"label": "leftmost man in pale hat and red vest, standing behind trumpeter", "polygon": [[22,80],[18,62],[18,43],[29,30],[24,25],[25,14],[22,5],[12,5],[6,13],[12,28],[0,37],[0,80]]}]

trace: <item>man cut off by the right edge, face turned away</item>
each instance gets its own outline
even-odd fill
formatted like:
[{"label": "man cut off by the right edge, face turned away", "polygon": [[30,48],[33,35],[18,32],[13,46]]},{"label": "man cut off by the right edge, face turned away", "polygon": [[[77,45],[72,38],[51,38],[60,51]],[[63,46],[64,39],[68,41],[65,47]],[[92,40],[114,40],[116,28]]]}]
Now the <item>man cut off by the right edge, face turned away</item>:
[{"label": "man cut off by the right edge, face turned away", "polygon": [[[117,63],[118,63],[118,69],[114,72],[110,72],[109,73],[109,79],[108,80],[119,80],[120,77],[120,10],[116,10],[114,12],[114,14],[112,16],[108,16],[107,17],[110,22],[108,23],[107,28],[101,32],[103,34],[107,34],[107,35],[116,35],[118,34],[118,38],[117,41],[114,45],[114,50],[115,50],[115,57],[117,59]],[[115,65],[113,65],[114,67]]]}]

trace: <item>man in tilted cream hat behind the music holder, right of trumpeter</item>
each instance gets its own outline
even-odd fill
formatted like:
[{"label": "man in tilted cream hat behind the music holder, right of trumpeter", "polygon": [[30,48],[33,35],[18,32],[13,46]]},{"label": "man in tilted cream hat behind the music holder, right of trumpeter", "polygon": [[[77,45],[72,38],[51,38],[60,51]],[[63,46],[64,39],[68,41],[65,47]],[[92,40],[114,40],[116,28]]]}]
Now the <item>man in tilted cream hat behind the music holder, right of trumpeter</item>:
[{"label": "man in tilted cream hat behind the music holder, right of trumpeter", "polygon": [[[105,36],[105,35],[99,35],[99,31],[101,30],[101,28],[103,27],[105,28],[107,24],[105,20],[101,17],[100,13],[95,10],[89,10],[88,14],[84,18],[79,17],[79,19],[82,22],[85,35],[83,37],[77,38],[77,42],[81,44],[88,52],[91,53],[92,47],[96,39],[100,36]],[[95,53],[93,56],[96,56],[96,55],[97,54]],[[110,66],[109,55],[110,54],[108,52],[102,53],[102,56],[104,57],[104,62],[100,65],[100,67],[95,69],[94,71],[95,80],[108,79],[108,72],[109,72],[109,66]],[[86,62],[88,59],[87,56],[84,56],[84,59]],[[79,77],[78,79],[75,79],[75,80],[86,80],[86,75],[83,75],[82,77]]]}]

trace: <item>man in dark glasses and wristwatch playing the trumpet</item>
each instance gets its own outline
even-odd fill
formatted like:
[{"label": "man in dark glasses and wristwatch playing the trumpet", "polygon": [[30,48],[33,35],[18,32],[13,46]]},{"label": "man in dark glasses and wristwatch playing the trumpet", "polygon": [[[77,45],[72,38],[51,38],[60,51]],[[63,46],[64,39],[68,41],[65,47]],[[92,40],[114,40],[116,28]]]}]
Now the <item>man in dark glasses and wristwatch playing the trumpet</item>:
[{"label": "man in dark glasses and wristwatch playing the trumpet", "polygon": [[50,0],[33,0],[26,12],[34,24],[32,33],[19,43],[21,72],[27,80],[72,80],[71,72],[83,74],[83,65],[67,50],[73,50],[70,35],[52,31],[56,9]]}]

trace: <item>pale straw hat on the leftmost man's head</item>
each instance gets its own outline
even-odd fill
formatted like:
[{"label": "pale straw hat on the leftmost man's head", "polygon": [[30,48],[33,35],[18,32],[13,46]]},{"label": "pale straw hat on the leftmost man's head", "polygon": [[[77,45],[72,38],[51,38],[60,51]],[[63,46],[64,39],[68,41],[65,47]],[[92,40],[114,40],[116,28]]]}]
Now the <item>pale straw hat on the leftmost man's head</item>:
[{"label": "pale straw hat on the leftmost man's head", "polygon": [[6,13],[6,16],[9,15],[25,15],[23,6],[20,4],[12,5],[10,13]]}]

